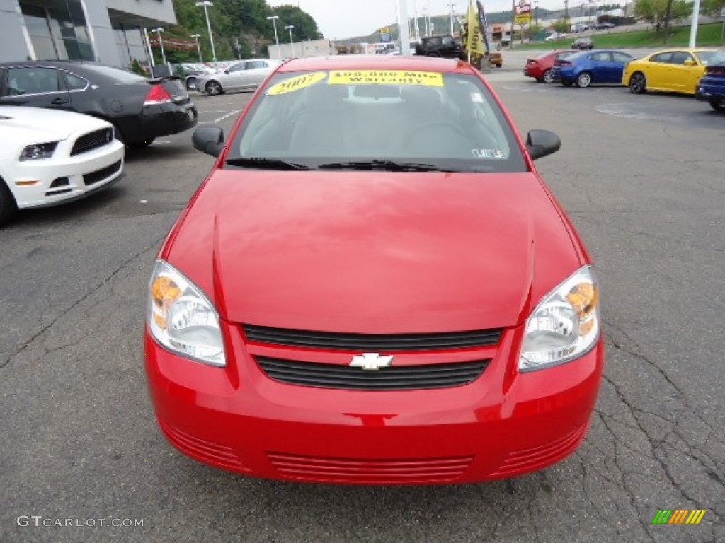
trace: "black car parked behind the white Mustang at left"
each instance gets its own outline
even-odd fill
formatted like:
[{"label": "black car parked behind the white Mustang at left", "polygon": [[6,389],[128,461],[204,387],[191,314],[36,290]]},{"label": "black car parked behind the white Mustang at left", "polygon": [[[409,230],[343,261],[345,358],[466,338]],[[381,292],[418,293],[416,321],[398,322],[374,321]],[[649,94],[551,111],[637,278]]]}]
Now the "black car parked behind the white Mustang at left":
[{"label": "black car parked behind the white Mustang at left", "polygon": [[196,106],[176,76],[146,79],[95,62],[48,60],[0,64],[0,106],[69,109],[100,117],[128,147],[183,132]]}]

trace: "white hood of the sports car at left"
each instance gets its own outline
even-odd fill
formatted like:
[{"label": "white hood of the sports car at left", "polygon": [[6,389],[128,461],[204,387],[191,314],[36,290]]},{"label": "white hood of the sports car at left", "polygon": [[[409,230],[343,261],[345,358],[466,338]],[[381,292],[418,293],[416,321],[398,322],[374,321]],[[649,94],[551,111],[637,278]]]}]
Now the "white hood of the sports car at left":
[{"label": "white hood of the sports car at left", "polygon": [[[0,106],[0,140],[7,135],[12,143],[45,143],[67,139],[81,130],[91,132],[110,126],[95,117],[61,111],[25,106]],[[12,129],[12,130],[9,130]],[[11,143],[2,141],[2,143]]]}]

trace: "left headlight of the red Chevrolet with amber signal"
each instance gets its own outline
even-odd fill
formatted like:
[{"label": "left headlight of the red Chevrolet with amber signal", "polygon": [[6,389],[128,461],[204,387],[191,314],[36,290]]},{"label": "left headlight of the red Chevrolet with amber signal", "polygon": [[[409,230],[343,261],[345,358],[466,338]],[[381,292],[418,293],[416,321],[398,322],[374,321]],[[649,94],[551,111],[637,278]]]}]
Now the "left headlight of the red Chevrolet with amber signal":
[{"label": "left headlight of the red Chevrolet with amber signal", "polygon": [[199,287],[164,261],[149,285],[149,329],[165,348],[195,361],[225,366],[219,315]]}]

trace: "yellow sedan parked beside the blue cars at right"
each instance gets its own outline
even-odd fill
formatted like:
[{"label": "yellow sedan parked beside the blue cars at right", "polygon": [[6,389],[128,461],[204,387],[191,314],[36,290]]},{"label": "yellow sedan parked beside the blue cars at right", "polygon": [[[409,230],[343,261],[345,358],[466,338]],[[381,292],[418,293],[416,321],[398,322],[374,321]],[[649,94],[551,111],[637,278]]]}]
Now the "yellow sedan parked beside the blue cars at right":
[{"label": "yellow sedan parked beside the blue cars at right", "polygon": [[695,95],[705,66],[725,61],[717,49],[666,49],[629,62],[622,73],[622,85],[634,94],[646,90]]}]

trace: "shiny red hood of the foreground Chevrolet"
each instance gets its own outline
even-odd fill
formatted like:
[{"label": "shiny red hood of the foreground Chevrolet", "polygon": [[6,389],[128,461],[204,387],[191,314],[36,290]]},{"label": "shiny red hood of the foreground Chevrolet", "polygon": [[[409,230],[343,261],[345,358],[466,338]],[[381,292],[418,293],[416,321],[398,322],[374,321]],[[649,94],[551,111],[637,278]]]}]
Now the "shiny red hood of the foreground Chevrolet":
[{"label": "shiny red hood of the foreground Chevrolet", "polygon": [[535,174],[218,170],[162,258],[223,318],[344,332],[523,321],[581,265]]}]

